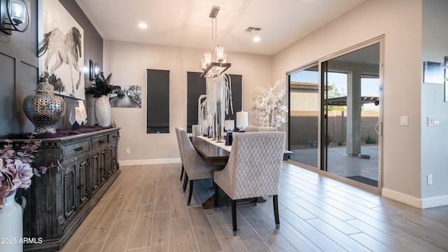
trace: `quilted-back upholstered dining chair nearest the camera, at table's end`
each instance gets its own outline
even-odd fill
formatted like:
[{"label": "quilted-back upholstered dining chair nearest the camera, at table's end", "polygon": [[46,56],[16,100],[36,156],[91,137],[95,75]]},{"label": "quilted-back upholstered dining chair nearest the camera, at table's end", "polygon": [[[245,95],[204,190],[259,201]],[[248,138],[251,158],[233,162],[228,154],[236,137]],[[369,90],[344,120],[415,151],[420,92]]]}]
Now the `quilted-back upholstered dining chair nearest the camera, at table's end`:
[{"label": "quilted-back upholstered dining chair nearest the camera, at table's end", "polygon": [[237,200],[265,195],[272,195],[275,224],[280,228],[278,195],[285,141],[285,132],[235,134],[227,165],[214,172],[216,209],[219,188],[232,199],[233,235],[237,235]]}]

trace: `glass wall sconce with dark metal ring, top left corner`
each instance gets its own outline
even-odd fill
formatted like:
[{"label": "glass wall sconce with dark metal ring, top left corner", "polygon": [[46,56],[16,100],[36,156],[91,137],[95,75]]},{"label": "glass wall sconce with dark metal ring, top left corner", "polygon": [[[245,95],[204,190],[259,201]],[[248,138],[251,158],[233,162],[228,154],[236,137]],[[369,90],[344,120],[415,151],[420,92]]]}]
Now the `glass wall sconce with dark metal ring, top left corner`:
[{"label": "glass wall sconce with dark metal ring, top left corner", "polygon": [[28,28],[29,15],[24,0],[0,0],[0,29],[6,34],[11,31],[24,32]]}]

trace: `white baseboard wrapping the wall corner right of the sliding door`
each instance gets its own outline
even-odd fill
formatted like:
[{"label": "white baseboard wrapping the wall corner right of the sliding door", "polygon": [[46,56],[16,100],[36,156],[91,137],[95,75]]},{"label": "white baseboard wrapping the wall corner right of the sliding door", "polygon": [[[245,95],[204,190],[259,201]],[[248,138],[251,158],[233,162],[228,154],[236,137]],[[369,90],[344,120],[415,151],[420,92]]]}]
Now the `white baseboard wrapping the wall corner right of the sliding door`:
[{"label": "white baseboard wrapping the wall corner right of the sliding door", "polygon": [[381,190],[381,195],[391,200],[396,200],[398,202],[402,202],[411,205],[412,207],[417,207],[419,209],[427,209],[430,207],[442,207],[448,205],[448,195],[419,199],[416,197],[405,195],[404,193],[398,193],[395,192],[394,190],[389,190],[387,188],[383,188]]}]

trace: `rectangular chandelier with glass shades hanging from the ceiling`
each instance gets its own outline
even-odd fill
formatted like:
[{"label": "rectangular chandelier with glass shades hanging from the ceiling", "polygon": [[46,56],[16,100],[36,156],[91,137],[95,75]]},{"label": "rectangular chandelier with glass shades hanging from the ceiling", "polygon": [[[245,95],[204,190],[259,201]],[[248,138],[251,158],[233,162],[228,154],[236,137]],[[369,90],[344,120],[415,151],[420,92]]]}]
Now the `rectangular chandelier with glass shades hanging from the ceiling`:
[{"label": "rectangular chandelier with glass shades hanging from the ceiling", "polygon": [[[224,48],[216,43],[216,26],[220,7],[213,6],[210,11],[209,18],[211,18],[211,52],[205,52],[202,58],[202,75],[201,76],[218,76],[225,72],[231,64],[227,62],[226,55],[224,54]],[[216,46],[215,46],[216,45]],[[216,62],[212,62],[212,57],[216,59]]]}]

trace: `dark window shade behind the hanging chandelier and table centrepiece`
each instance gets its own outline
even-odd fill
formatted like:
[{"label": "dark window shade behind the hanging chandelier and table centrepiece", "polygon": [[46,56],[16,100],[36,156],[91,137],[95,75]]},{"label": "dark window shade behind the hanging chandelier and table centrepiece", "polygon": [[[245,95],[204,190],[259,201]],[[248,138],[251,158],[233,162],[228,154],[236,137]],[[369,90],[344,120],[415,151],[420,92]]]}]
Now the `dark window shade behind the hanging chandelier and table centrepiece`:
[{"label": "dark window shade behind the hanging chandelier and table centrepiece", "polygon": [[[243,91],[243,76],[230,74],[232,80],[232,101],[233,114],[229,110],[229,114],[225,116],[226,120],[237,120],[237,112],[241,111],[241,94]],[[187,72],[187,132],[191,132],[191,125],[197,124],[197,99],[201,94],[205,94],[205,78],[201,77],[201,73]]]}]

